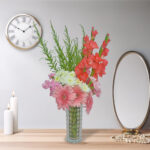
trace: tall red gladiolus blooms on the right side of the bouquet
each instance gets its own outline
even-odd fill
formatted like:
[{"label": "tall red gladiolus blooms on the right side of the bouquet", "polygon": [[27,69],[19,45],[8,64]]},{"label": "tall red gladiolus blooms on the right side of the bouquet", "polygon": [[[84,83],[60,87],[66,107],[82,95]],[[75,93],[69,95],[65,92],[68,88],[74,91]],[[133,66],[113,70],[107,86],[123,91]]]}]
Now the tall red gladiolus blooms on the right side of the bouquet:
[{"label": "tall red gladiolus blooms on the right side of the bouquet", "polygon": [[[95,79],[98,79],[98,76],[102,77],[105,74],[105,68],[108,64],[107,60],[102,58],[107,56],[109,52],[106,48],[110,42],[109,34],[106,35],[99,53],[95,53],[94,55],[93,50],[98,48],[97,43],[94,41],[97,34],[97,30],[94,30],[94,27],[92,27],[91,40],[88,35],[84,37],[84,48],[82,51],[84,57],[75,67],[76,76],[87,84],[90,82],[89,76],[93,76]],[[92,83],[90,83],[90,85],[92,85]]]}]

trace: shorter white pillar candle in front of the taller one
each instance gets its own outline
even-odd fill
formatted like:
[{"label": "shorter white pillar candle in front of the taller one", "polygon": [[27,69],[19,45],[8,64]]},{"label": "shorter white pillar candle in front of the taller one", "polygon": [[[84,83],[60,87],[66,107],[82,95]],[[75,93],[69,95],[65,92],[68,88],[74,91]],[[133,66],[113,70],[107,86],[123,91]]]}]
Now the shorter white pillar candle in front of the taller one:
[{"label": "shorter white pillar candle in front of the taller one", "polygon": [[4,134],[13,134],[13,113],[10,110],[9,106],[4,111]]}]

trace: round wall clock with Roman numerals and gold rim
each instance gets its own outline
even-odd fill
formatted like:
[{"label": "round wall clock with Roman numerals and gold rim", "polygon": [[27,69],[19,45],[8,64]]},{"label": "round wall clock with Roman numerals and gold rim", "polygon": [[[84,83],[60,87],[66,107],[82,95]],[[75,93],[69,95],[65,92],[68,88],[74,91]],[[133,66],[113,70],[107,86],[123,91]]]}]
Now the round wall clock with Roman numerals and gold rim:
[{"label": "round wall clock with Roman numerals and gold rim", "polygon": [[20,14],[12,18],[6,28],[6,37],[10,44],[18,49],[30,49],[36,46],[39,38],[34,25],[42,35],[40,23],[33,16]]}]

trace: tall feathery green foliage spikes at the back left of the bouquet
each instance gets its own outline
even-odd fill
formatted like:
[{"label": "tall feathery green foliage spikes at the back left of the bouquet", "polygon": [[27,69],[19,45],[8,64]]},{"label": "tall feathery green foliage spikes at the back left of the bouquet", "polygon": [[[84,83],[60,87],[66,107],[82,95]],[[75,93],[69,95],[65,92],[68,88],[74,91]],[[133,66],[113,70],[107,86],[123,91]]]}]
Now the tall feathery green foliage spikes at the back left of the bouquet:
[{"label": "tall feathery green foliage spikes at the back left of the bouquet", "polygon": [[[79,64],[79,62],[82,60],[82,48],[79,48],[78,46],[78,39],[74,38],[71,39],[68,29],[65,26],[64,30],[64,48],[60,45],[59,37],[52,25],[50,23],[50,27],[52,30],[52,37],[55,43],[53,50],[48,50],[47,48],[47,42],[45,42],[41,37],[40,33],[35,26],[36,33],[38,35],[38,38],[40,40],[40,47],[43,50],[43,54],[45,55],[45,60],[47,61],[50,69],[52,71],[58,71],[60,69],[66,70],[66,71],[74,71],[75,67]],[[84,28],[81,26],[83,37],[85,36]],[[84,42],[84,41],[83,41]],[[52,55],[54,51],[57,53],[57,56]]]}]

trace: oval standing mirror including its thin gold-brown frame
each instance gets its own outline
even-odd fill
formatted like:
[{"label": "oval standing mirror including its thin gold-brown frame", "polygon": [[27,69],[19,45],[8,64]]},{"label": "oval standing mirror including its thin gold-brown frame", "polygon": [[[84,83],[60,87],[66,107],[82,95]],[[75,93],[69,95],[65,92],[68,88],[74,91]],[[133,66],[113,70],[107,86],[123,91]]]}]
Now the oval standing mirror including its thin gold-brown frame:
[{"label": "oval standing mirror including its thin gold-brown frame", "polygon": [[138,131],[149,112],[149,70],[143,56],[129,51],[119,59],[113,80],[113,104],[124,130]]}]

